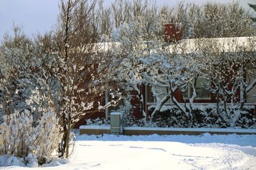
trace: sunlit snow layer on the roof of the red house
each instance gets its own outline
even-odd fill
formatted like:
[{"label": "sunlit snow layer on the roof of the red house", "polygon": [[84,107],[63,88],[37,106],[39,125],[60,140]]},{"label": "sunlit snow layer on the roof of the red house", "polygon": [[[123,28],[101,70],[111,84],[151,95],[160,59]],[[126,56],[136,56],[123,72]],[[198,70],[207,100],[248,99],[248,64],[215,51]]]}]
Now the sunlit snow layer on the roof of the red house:
[{"label": "sunlit snow layer on the roof of the red house", "polygon": [[[154,44],[154,43],[150,43]],[[163,41],[156,42],[156,46],[159,46],[159,50],[163,48]],[[86,46],[84,48],[90,49],[90,52],[109,52],[114,48],[118,49],[122,46],[120,42],[110,43],[94,43],[92,46]],[[138,46],[137,46],[138,47]],[[82,48],[82,51],[86,51]],[[141,45],[141,49],[146,49],[147,43]],[[93,49],[93,50],[92,50]],[[193,53],[198,50],[214,50],[218,49],[219,52],[252,52],[256,51],[256,36],[253,37],[232,37],[232,38],[196,38],[196,39],[182,39],[176,44],[170,44],[166,46],[166,52],[170,53]],[[89,51],[89,50],[88,50]],[[157,49],[151,49],[152,52],[156,52]]]}]

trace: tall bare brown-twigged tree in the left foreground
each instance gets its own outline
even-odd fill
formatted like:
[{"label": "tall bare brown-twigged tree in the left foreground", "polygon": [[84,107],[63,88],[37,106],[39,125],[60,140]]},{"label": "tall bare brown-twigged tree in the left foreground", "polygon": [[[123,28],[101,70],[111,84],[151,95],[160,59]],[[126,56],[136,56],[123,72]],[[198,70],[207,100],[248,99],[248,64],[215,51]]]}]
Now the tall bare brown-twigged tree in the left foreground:
[{"label": "tall bare brown-twigged tree in the left foreground", "polygon": [[[115,69],[113,53],[106,43],[99,43],[95,6],[97,1],[60,1],[60,23],[56,30],[58,81],[60,82],[60,124],[63,138],[60,157],[69,155],[70,129],[86,113],[105,106],[104,92]],[[118,65],[118,64],[117,64]]]}]

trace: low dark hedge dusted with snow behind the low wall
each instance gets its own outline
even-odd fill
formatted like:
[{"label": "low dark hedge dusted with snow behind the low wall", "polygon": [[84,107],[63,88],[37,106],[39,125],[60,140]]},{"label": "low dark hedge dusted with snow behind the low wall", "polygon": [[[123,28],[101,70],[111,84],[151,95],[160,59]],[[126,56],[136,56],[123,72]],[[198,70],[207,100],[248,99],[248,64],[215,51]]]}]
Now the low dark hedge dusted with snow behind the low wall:
[{"label": "low dark hedge dusted with snow behind the low wall", "polygon": [[[150,113],[154,108],[150,110]],[[246,128],[251,129],[256,127],[256,115],[253,113],[253,108],[245,108],[243,111],[237,110],[232,113],[231,117],[227,117],[225,111],[221,111],[218,115],[216,108],[198,108],[192,110],[193,119],[184,121],[184,117],[180,114],[178,108],[170,106],[170,108],[161,111],[153,119],[147,119],[144,123],[141,119],[127,115],[124,117],[124,127],[211,127],[211,128]]]}]

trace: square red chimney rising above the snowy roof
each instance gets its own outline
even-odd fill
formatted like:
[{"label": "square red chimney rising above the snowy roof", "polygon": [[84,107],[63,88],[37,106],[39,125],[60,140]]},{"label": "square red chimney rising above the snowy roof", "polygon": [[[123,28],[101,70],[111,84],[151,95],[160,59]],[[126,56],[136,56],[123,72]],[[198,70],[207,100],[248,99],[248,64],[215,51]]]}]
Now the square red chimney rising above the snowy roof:
[{"label": "square red chimney rising above the snowy roof", "polygon": [[181,36],[181,23],[164,24],[164,41],[166,43],[176,43]]}]

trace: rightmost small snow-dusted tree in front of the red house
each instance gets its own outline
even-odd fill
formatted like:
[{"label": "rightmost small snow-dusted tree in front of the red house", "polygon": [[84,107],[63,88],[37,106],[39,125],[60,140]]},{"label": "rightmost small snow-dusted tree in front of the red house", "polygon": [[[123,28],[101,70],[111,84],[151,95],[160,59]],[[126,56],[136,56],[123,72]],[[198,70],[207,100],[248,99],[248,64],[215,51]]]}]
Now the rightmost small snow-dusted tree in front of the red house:
[{"label": "rightmost small snow-dusted tree in front of the red house", "polygon": [[214,94],[218,115],[231,125],[237,120],[235,111],[243,110],[244,71],[248,61],[244,48],[248,48],[247,45],[247,39],[239,38],[201,41],[200,62],[208,82],[206,88]]}]

